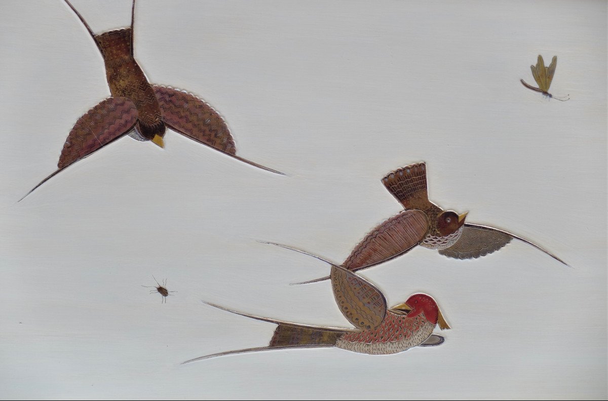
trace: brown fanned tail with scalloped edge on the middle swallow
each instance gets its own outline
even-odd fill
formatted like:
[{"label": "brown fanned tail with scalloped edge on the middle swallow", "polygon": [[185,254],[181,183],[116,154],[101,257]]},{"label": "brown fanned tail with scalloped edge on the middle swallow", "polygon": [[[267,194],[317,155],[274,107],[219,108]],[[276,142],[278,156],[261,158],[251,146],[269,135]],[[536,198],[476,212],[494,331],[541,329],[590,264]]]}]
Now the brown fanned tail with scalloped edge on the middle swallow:
[{"label": "brown fanned tail with scalloped edge on the middle swallow", "polygon": [[382,179],[382,183],[406,210],[428,210],[432,206],[426,187],[424,162],[391,171]]}]

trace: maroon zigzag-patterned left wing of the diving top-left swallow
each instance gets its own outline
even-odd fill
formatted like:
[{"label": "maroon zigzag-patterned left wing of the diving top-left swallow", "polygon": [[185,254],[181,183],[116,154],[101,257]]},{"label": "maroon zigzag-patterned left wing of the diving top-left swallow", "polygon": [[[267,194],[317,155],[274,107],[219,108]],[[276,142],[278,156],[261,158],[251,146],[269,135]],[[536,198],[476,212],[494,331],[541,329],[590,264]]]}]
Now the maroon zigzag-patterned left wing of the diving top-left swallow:
[{"label": "maroon zigzag-patterned left wing of the diving top-left swallow", "polygon": [[80,117],[67,135],[59,163],[60,170],[131,131],[137,109],[125,97],[109,97]]}]

